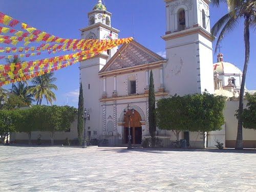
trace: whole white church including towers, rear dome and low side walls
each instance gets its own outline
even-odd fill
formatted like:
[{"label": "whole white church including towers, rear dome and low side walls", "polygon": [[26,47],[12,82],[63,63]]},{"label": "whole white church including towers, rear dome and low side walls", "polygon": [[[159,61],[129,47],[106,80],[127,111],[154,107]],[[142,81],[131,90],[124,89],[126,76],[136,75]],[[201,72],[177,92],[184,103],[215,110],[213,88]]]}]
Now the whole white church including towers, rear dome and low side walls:
[{"label": "whole white church including towers, rear dome and low side walls", "polygon": [[[150,137],[148,128],[148,87],[150,71],[154,76],[156,102],[171,95],[203,93],[227,97],[224,110],[225,124],[221,131],[204,134],[182,132],[188,146],[215,147],[216,140],[226,147],[234,147],[237,136],[239,91],[242,72],[232,63],[225,62],[222,53],[217,63],[212,58],[209,0],[164,0],[166,3],[166,58],[147,49],[137,41],[102,52],[80,62],[80,83],[83,88],[84,107],[87,109],[86,136],[107,140],[110,146],[124,146],[128,142],[131,126],[131,142],[140,145]],[[80,29],[84,39],[117,39],[119,30],[112,26],[112,13],[101,0],[88,13],[88,26]],[[184,54],[185,53],[185,54]],[[248,91],[254,93],[255,91]],[[246,107],[246,100],[245,100]],[[124,111],[133,109],[131,120]],[[32,139],[40,136],[49,141],[47,132],[32,132]],[[165,147],[170,147],[176,136],[171,131],[156,131]],[[66,138],[77,140],[77,121],[67,132],[55,134],[55,143]],[[256,148],[256,132],[243,129],[244,147]],[[13,133],[11,140],[26,142],[26,133]]]}]

